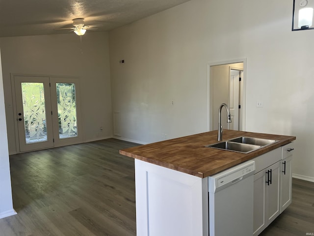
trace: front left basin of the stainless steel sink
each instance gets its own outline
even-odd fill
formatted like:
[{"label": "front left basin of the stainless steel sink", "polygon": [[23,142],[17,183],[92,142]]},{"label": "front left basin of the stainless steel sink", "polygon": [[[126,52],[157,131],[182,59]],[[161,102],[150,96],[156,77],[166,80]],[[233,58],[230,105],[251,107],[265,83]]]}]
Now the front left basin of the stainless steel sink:
[{"label": "front left basin of the stainless steel sink", "polygon": [[236,151],[241,153],[249,153],[251,151],[255,151],[259,148],[262,148],[262,146],[259,145],[252,145],[252,144],[242,144],[242,143],[235,143],[235,142],[221,142],[218,144],[212,144],[205,146],[207,148],[217,148],[222,150],[229,150],[229,151]]}]

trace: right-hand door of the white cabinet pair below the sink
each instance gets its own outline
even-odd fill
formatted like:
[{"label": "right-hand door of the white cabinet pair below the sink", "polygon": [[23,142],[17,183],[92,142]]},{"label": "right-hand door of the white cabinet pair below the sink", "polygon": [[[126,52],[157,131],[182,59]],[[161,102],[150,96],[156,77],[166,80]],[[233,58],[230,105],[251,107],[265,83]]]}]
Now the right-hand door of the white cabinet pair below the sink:
[{"label": "right-hand door of the white cabinet pair below the sink", "polygon": [[266,195],[267,195],[267,225],[270,224],[279,214],[280,214],[280,179],[281,179],[281,161],[276,162],[270,167],[266,168],[267,171],[271,171],[269,175],[265,173],[266,181],[271,180],[271,183],[265,183],[266,185]]}]

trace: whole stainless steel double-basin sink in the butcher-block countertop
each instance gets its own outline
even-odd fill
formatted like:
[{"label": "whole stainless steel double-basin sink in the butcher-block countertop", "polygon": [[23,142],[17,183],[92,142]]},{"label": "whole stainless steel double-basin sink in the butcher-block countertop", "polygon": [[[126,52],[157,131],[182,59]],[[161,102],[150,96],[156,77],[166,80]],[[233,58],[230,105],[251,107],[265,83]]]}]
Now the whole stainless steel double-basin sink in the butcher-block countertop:
[{"label": "whole stainless steel double-basin sink in the butcher-block countertop", "polygon": [[221,150],[236,151],[241,153],[249,153],[257,149],[266,147],[278,140],[260,139],[251,137],[238,137],[225,142],[205,146],[207,148],[216,148]]}]

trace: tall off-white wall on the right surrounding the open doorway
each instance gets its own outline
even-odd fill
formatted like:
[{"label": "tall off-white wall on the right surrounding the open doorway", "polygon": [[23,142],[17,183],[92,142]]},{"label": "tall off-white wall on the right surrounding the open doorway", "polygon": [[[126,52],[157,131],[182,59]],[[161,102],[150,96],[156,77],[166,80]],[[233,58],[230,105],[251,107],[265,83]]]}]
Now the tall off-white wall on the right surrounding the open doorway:
[{"label": "tall off-white wall on the right surrounding the open doorway", "polygon": [[191,0],[110,31],[121,138],[207,131],[207,64],[246,58],[245,130],[296,136],[293,173],[314,180],[314,30],[291,20],[292,1]]}]

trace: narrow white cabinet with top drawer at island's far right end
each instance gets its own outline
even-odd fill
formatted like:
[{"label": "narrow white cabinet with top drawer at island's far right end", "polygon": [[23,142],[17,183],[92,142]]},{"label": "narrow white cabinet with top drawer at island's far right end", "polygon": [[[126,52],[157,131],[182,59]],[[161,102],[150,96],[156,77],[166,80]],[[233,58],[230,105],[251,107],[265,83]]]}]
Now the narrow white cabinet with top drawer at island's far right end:
[{"label": "narrow white cabinet with top drawer at island's far right end", "polygon": [[291,204],[293,143],[282,147],[280,213]]}]

